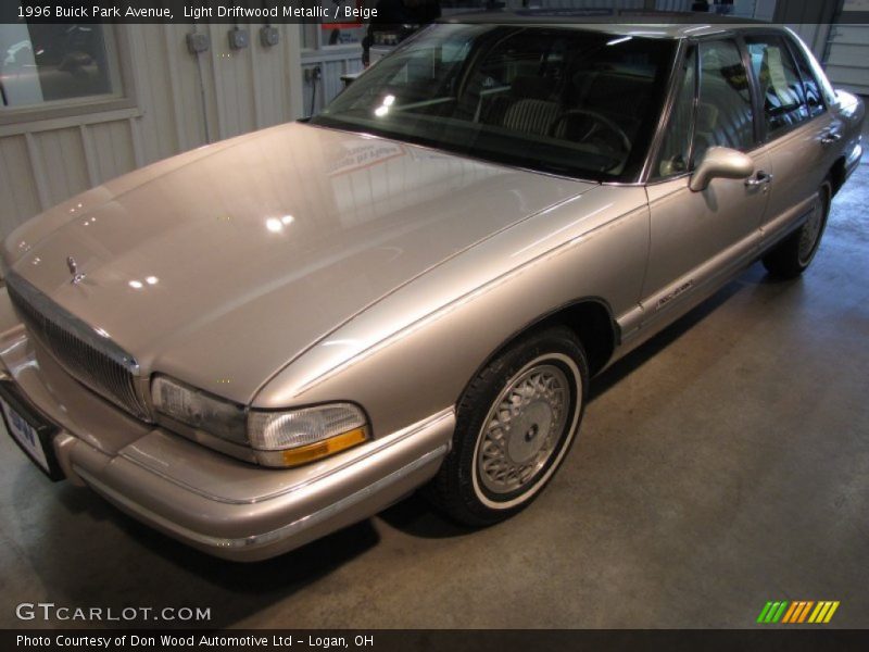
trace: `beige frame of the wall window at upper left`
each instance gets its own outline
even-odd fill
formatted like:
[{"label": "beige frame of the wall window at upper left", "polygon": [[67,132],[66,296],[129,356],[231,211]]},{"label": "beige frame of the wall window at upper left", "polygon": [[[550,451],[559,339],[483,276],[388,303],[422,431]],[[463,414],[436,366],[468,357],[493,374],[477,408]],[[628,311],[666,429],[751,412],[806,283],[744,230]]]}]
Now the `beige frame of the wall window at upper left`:
[{"label": "beige frame of the wall window at upper left", "polygon": [[[116,112],[124,109],[138,109],[135,75],[130,59],[130,42],[127,29],[113,23],[100,23],[103,29],[111,30],[117,58],[117,92],[51,100],[25,106],[0,108],[0,126],[38,123],[55,118],[70,118]],[[106,39],[109,42],[109,39]]]}]

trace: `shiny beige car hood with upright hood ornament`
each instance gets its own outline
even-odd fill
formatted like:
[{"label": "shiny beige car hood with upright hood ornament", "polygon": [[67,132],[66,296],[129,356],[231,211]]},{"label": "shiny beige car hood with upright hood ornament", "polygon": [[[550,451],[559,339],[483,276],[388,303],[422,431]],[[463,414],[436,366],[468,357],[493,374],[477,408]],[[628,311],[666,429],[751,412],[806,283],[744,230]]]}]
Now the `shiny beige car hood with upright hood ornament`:
[{"label": "shiny beige car hood with upright hood ornament", "polygon": [[143,373],[249,402],[396,288],[591,187],[288,124],[66,201],[13,233],[5,256]]}]

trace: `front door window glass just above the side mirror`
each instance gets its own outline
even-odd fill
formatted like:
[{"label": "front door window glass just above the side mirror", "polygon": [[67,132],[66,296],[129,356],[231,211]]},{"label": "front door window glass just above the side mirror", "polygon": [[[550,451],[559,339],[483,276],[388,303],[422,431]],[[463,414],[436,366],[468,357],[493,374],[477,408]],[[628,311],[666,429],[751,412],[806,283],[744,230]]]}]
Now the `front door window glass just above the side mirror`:
[{"label": "front door window glass just above the side mirror", "polygon": [[694,160],[698,161],[714,146],[752,149],[755,138],[751,86],[736,43],[702,43],[700,66]]}]

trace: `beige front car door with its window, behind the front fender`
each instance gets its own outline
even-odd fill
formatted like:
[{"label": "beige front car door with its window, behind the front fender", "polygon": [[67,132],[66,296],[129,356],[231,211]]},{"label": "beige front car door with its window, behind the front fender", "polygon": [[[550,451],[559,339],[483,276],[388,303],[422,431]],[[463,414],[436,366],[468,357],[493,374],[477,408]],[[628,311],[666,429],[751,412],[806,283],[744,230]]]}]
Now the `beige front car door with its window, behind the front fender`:
[{"label": "beige front car door with its window, behind the front fender", "polygon": [[[669,321],[665,315],[696,303],[756,255],[769,195],[768,156],[756,147],[754,98],[738,42],[692,46],[682,75],[646,186],[651,241],[641,326]],[[691,173],[715,146],[751,156],[755,174],[714,178],[693,191]]]}]

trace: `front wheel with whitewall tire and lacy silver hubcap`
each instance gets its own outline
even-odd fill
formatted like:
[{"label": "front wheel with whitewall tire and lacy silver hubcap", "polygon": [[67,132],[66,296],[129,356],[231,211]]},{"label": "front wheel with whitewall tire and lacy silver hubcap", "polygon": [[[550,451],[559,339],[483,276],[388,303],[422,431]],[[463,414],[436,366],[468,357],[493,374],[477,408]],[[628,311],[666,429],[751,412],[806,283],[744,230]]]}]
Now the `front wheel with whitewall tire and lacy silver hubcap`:
[{"label": "front wheel with whitewall tire and lacy silver hubcap", "polygon": [[589,367],[576,335],[557,326],[498,355],[456,411],[453,448],[428,494],[471,526],[527,506],[561,465],[579,429]]}]

